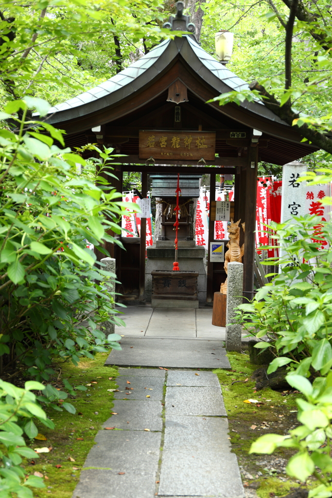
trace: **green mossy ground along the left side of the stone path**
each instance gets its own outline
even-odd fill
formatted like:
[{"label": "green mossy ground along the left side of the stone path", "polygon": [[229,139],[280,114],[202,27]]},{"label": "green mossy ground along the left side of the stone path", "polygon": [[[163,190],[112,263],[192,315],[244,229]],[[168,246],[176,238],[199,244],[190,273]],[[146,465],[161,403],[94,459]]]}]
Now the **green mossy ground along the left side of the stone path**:
[{"label": "green mossy ground along the left side of the stone path", "polygon": [[99,353],[95,360],[82,361],[78,367],[62,364],[59,377],[52,379],[52,384],[61,389],[64,378],[74,386],[98,383],[91,384],[87,391],[76,391],[75,398],[66,400],[76,407],[75,415],[65,410],[49,410],[55,430],[39,425],[38,430],[47,441],[32,440],[28,444],[31,448],[52,447],[50,453],[41,453],[39,459],[26,461],[26,474],[40,472],[45,477],[46,487],[33,490],[35,498],[71,498],[95,435],[111,416],[113,394],[108,389],[116,387],[117,369],[104,367],[106,356]]}]

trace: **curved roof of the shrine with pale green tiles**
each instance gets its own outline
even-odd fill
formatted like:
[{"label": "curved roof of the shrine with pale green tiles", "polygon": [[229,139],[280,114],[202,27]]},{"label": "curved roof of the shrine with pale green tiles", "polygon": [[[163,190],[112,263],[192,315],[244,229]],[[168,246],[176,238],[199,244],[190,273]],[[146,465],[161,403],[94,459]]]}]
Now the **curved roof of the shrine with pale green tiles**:
[{"label": "curved roof of the shrine with pale green tiles", "polygon": [[[48,122],[50,124],[66,122],[117,104],[123,98],[148,85],[179,55],[220,94],[249,88],[245,81],[208,54],[190,35],[183,35],[173,40],[162,41],[146,55],[104,83],[52,107],[48,113],[52,114]],[[254,102],[244,101],[241,107],[275,123],[288,126],[259,99]]]}]

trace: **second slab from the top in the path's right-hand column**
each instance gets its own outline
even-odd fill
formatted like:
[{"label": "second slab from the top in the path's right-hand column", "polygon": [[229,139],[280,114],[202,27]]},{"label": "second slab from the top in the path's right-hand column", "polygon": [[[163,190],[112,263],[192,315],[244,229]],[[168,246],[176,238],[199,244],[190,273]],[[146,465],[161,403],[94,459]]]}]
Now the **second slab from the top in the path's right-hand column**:
[{"label": "second slab from the top in the path's right-hand column", "polygon": [[165,399],[166,416],[168,417],[174,415],[226,415],[220,386],[169,386]]}]

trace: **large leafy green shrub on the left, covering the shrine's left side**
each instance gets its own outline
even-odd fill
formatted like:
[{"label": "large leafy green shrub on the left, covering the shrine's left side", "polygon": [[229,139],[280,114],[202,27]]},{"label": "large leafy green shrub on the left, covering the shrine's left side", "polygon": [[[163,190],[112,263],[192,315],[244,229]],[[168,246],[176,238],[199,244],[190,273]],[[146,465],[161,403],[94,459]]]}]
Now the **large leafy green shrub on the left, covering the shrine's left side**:
[{"label": "large leafy green shrub on the left, covering the shrine's left side", "polygon": [[124,207],[105,180],[113,176],[111,149],[96,148],[104,174],[96,186],[80,155],[54,145],[54,139],[63,143],[58,130],[24,123],[28,106],[40,113],[48,108],[27,97],[8,103],[0,116],[23,111],[22,120],[13,119],[16,132],[6,124],[0,129],[0,375],[22,372],[47,381],[54,360],[77,364],[120,349],[114,342],[120,336],[100,330],[106,321],[123,323],[101,283],[115,275],[98,266],[86,241],[109,255],[103,242],[121,244],[109,232],[120,233]]}]

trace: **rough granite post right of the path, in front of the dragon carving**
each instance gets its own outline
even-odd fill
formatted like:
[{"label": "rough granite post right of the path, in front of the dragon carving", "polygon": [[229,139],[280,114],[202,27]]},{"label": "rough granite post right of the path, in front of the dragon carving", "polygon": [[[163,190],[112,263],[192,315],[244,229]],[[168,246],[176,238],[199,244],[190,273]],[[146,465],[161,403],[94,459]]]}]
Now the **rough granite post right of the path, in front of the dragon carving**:
[{"label": "rough granite post right of the path, in front of the dragon carving", "polygon": [[236,306],[242,304],[243,264],[228,263],[226,304],[226,350],[241,351],[241,324],[235,323]]}]

